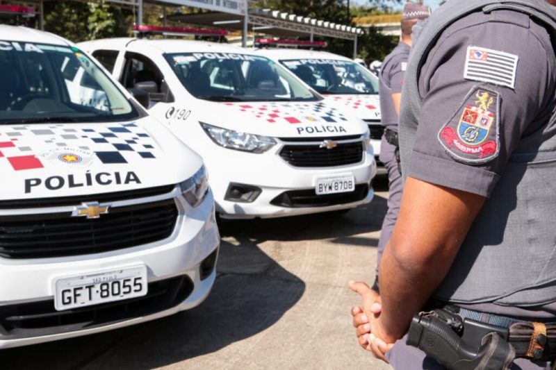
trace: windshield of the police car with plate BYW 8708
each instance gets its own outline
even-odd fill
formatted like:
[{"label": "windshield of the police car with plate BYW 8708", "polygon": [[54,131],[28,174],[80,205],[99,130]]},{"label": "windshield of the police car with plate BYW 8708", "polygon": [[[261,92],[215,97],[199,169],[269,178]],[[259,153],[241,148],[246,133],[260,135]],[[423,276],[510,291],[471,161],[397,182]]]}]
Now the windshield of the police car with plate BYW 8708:
[{"label": "windshield of the police car with plate BYW 8708", "polygon": [[167,54],[186,90],[210,101],[317,101],[294,76],[268,58],[238,53]]}]

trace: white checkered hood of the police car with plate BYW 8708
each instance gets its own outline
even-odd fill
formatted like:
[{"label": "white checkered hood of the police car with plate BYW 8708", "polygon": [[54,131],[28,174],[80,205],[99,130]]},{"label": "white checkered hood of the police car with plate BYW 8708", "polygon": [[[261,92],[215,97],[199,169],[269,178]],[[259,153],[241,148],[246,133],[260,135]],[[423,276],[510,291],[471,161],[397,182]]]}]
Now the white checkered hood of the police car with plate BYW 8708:
[{"label": "white checkered hood of the police car with plate BYW 8708", "polygon": [[361,119],[324,101],[206,103],[200,121],[234,131],[269,137],[323,137],[363,135]]}]

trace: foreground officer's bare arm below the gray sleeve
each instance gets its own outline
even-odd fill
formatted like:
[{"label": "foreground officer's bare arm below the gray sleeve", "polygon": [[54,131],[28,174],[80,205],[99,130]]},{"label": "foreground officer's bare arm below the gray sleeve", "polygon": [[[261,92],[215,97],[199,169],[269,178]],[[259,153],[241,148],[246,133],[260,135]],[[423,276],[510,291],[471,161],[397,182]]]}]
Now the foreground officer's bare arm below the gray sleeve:
[{"label": "foreground officer's bare arm below the gray sleeve", "polygon": [[450,266],[484,203],[482,196],[408,178],[398,222],[379,270],[382,325],[406,332]]}]

